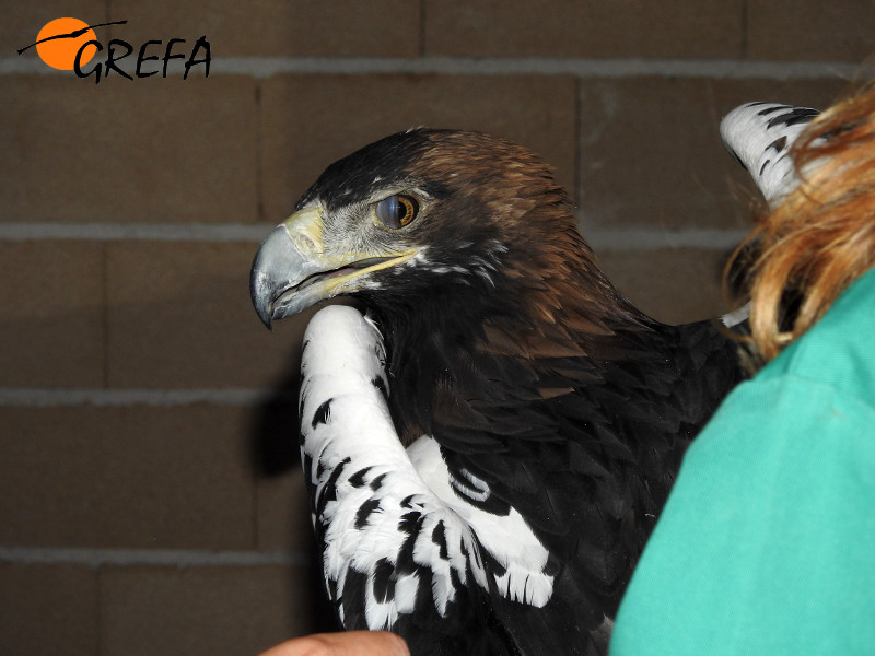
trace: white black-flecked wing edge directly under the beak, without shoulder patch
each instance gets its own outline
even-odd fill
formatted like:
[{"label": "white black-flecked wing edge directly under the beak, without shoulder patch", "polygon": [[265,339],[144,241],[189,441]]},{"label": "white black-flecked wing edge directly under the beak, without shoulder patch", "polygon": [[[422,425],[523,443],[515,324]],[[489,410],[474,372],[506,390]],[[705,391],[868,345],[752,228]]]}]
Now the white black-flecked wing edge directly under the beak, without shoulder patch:
[{"label": "white black-flecked wing edge directly under the beak, without shoulder patch", "polygon": [[[413,558],[432,572],[439,612],[455,598],[453,572],[464,584],[474,564],[474,575],[482,576],[464,555],[476,551],[469,529],[431,494],[398,441],[381,390],[381,385],[386,388],[384,360],[376,328],[353,308],[327,307],[307,327],[301,449],[314,488],[314,524],[324,536],[324,575],[335,602],[350,570],[368,577],[364,612],[373,630],[388,628],[398,613],[413,610],[420,584],[416,574],[396,581],[388,599],[378,599],[373,589],[381,561],[395,564],[392,559],[408,538],[399,522],[411,511],[424,518]],[[439,523],[444,525],[445,557],[432,541]],[[342,605],[338,610],[342,620]]]}]

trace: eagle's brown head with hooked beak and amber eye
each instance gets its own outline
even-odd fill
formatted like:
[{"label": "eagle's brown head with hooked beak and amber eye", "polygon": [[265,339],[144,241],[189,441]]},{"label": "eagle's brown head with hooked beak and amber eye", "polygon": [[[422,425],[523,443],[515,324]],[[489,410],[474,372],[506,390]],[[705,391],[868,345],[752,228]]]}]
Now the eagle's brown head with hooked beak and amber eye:
[{"label": "eagle's brown head with hooked beak and amber eye", "polygon": [[413,129],[330,165],[259,248],[250,291],[268,327],[339,295],[387,315],[424,300],[447,316],[472,295],[481,315],[490,296],[518,312],[520,292],[549,285],[583,250],[537,155],[479,132]]}]

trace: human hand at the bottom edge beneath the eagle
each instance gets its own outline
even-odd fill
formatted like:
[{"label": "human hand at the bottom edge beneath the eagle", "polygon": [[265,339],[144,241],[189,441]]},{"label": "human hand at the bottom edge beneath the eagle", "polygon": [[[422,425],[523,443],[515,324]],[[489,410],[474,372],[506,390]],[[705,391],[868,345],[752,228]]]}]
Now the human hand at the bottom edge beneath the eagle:
[{"label": "human hand at the bottom edge beneath the eagle", "polygon": [[260,656],[410,656],[410,652],[404,639],[388,631],[348,631],[295,637]]}]

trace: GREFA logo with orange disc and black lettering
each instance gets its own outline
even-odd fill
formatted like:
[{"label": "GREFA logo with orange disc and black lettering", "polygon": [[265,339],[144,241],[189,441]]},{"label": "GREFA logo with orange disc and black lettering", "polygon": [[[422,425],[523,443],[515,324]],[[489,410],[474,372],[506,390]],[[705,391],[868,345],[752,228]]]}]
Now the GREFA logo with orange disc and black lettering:
[{"label": "GREFA logo with orange disc and black lettering", "polygon": [[[94,33],[94,28],[125,24],[127,21],[89,25],[79,19],[55,19],[43,26],[39,34],[36,35],[36,43],[21,48],[19,55],[36,47],[36,54],[47,66],[61,71],[73,71],[77,77],[83,79],[93,77],[96,84],[100,84],[102,78],[108,78],[110,73],[133,80],[135,78],[151,78],[160,71],[161,77],[166,78],[168,62],[176,59],[185,61],[183,80],[188,79],[192,67],[201,65],[205,67],[203,77],[210,77],[210,42],[206,36],[201,36],[195,42],[188,55],[183,51],[186,44],[184,38],[168,39],[164,46],[163,56],[160,56],[159,52],[164,42],[147,40],[140,46],[136,58],[126,61],[129,66],[136,61],[132,74],[120,68],[118,62],[133,54],[133,46],[120,38],[112,38],[104,46]],[[83,70],[83,67],[104,49],[106,59],[103,62],[98,61],[89,70]],[[153,61],[155,63],[150,63]]]}]

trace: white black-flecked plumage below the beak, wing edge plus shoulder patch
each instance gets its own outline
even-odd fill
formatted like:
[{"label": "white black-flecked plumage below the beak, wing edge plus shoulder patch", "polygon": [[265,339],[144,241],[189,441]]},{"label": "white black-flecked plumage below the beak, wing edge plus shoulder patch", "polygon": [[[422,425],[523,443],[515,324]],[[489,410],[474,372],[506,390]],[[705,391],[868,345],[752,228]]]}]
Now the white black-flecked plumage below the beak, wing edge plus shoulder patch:
[{"label": "white black-flecked plumage below the beak, wing edge plus shoulder patch", "polygon": [[[358,311],[330,306],[311,320],[302,356],[301,449],[314,525],[323,535],[324,575],[341,621],[350,571],[368,577],[369,629],[390,628],[399,614],[415,611],[422,572],[394,574],[394,595],[385,598],[374,588],[377,570],[394,567],[409,539],[416,540],[417,566],[431,573],[439,614],[456,600],[456,585],[471,583],[542,607],[552,594],[552,577],[544,573],[547,550],[515,509],[497,516],[470,503],[485,501],[489,487],[464,472],[453,485],[434,440],[423,436],[404,449],[384,397],[384,364],[381,336]],[[412,538],[401,529],[411,513],[419,518]],[[435,541],[435,531],[442,540]],[[488,572],[481,549],[504,571]]]}]

